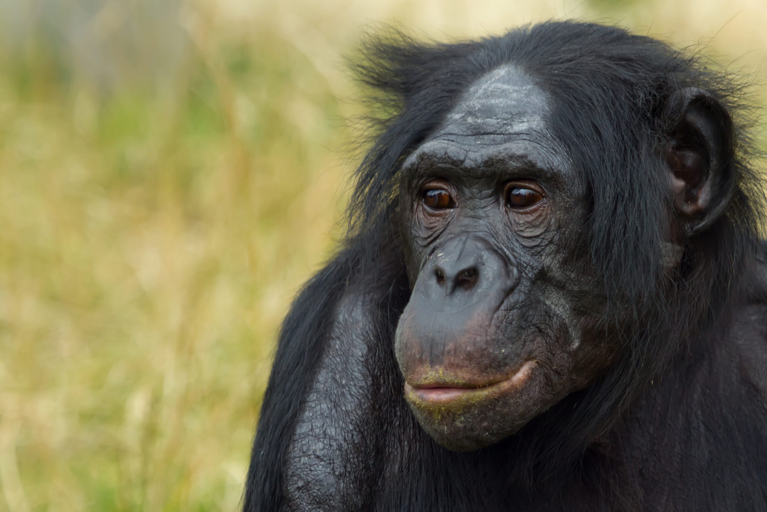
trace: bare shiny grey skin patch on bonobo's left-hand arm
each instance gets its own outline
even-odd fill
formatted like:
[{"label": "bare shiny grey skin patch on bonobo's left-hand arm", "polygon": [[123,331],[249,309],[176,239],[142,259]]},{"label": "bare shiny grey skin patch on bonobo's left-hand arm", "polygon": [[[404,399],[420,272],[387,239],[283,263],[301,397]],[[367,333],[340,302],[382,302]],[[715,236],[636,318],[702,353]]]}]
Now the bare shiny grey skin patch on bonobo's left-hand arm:
[{"label": "bare shiny grey skin patch on bonobo's left-hand arm", "polygon": [[[338,303],[324,354],[298,415],[285,461],[291,510],[360,510],[370,476],[372,357],[376,333],[370,299],[359,292]],[[367,428],[366,428],[367,427]],[[370,487],[370,486],[366,486]]]}]

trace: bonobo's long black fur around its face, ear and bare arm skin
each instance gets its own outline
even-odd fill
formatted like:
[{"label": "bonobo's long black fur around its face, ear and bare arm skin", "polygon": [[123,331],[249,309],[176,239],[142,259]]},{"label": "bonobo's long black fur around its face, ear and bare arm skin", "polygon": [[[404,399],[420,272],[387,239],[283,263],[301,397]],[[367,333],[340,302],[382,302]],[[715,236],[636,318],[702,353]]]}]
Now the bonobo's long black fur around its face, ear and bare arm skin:
[{"label": "bonobo's long black fur around its face, ear and bare arm skin", "polygon": [[[505,63],[555,105],[548,124],[588,187],[584,246],[618,310],[633,312],[624,357],[518,434],[447,451],[402,398],[392,337],[409,289],[397,231],[397,175],[473,81]],[[767,282],[763,193],[742,81],[700,55],[621,28],[548,22],[497,38],[423,45],[371,38],[354,61],[374,91],[377,131],[357,171],[349,234],[285,319],[264,398],[245,509],[301,508],[285,476],[296,421],[344,296],[372,297],[369,404],[338,499],[317,510],[767,510]],[[665,170],[652,164],[670,94],[694,86],[735,121],[737,183],[726,214],[687,240],[663,281]],[[761,255],[761,256],[759,256]],[[607,319],[606,319],[607,321]],[[331,404],[332,406],[332,404]],[[357,416],[355,416],[357,418]],[[357,462],[354,462],[357,461]],[[332,485],[332,484],[331,484]],[[354,494],[354,499],[344,498]],[[332,494],[332,493],[331,493]]]}]

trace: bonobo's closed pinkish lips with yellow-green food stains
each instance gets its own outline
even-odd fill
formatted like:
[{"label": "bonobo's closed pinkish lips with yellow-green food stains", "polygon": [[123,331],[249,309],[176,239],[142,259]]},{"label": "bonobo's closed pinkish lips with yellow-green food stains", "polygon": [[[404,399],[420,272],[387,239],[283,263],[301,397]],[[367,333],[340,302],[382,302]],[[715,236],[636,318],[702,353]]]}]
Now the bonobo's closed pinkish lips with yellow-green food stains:
[{"label": "bonobo's closed pinkish lips with yellow-green food stains", "polygon": [[535,361],[525,361],[511,377],[482,385],[471,385],[465,379],[458,378],[440,378],[439,382],[420,382],[413,385],[405,382],[405,398],[413,405],[423,408],[462,407],[522,388],[525,382],[528,382],[535,366]]}]

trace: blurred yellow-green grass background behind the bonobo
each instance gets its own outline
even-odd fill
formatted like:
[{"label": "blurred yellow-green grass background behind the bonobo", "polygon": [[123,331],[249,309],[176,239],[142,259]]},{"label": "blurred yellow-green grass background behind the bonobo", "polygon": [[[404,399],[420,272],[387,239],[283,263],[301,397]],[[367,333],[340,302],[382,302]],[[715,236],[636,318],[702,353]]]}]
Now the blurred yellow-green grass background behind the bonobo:
[{"label": "blurred yellow-green grass background behind the bonobo", "polygon": [[764,0],[0,2],[0,510],[236,510],[278,324],[341,236],[342,56],[381,21],[568,17],[767,63]]}]

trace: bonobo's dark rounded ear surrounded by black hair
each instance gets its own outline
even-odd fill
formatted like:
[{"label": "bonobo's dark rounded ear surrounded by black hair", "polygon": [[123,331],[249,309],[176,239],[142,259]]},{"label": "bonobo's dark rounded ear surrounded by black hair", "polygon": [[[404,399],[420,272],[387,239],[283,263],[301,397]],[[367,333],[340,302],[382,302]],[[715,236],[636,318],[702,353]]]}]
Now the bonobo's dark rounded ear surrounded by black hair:
[{"label": "bonobo's dark rounded ear surrounded by black hair", "polygon": [[735,191],[732,119],[716,97],[691,87],[671,95],[663,121],[673,206],[690,236],[718,219]]}]

